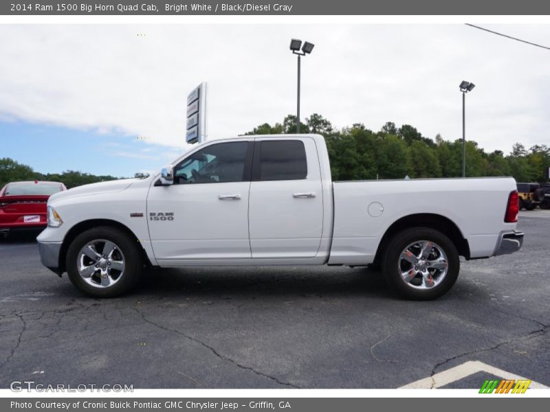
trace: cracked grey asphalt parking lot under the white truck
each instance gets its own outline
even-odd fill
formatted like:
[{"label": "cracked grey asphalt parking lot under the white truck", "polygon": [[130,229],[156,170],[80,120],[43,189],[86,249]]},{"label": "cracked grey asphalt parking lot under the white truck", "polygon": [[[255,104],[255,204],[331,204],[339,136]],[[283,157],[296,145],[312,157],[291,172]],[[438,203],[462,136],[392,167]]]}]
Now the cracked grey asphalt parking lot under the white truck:
[{"label": "cracked grey asphalt parking lot under the white truck", "polygon": [[32,238],[8,238],[0,387],[397,388],[467,361],[550,386],[550,211],[522,211],[518,228],[520,252],[462,262],[428,302],[395,298],[371,269],[294,266],[148,271],[131,295],[89,299]]}]

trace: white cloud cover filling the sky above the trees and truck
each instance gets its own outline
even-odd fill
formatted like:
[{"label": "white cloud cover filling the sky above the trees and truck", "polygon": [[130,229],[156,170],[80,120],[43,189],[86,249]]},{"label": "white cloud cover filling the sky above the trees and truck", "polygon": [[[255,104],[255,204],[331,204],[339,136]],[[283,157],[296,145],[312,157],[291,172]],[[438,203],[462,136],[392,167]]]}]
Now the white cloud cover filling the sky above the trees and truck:
[{"label": "white cloud cover filling the sky above the trees and truck", "polygon": [[[548,25],[487,27],[550,38]],[[465,25],[3,25],[0,36],[0,119],[182,148],[186,95],[208,80],[210,137],[245,133],[295,112],[298,37],[316,44],[302,65],[304,117],[456,139],[458,84],[470,80],[467,137],[487,150],[548,142],[549,52]]]}]

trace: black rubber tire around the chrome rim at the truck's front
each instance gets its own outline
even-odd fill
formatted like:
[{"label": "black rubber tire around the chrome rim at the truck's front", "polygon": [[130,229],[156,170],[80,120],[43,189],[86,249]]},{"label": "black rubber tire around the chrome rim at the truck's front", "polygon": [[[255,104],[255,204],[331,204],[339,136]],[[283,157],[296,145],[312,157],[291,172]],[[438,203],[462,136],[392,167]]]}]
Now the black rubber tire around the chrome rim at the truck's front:
[{"label": "black rubber tire around the chrome rim at the truck's front", "polygon": [[[115,279],[115,282],[110,286],[92,286],[87,283],[78,272],[77,265],[79,263],[78,258],[80,250],[89,242],[94,242],[94,240],[108,240],[109,242],[113,242],[116,246],[115,253],[118,253],[116,250],[122,253],[124,270],[118,273],[119,277]],[[114,263],[116,262],[113,262],[113,264]],[[94,229],[89,229],[76,236],[67,250],[65,264],[67,274],[72,284],[80,290],[80,292],[90,297],[115,297],[122,295],[122,293],[126,293],[137,284],[143,270],[142,251],[137,242],[124,233],[124,231],[109,226],[95,227]],[[99,279],[100,281],[98,275],[94,275],[94,279]]]}]

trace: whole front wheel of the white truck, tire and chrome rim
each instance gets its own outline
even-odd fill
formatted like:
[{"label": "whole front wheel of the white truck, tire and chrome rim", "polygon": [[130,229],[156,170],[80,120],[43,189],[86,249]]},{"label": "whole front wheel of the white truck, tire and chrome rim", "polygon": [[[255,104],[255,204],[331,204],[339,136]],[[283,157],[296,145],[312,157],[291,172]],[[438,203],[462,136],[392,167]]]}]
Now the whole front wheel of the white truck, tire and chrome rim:
[{"label": "whole front wheel of the white truck, tire and chrome rim", "polygon": [[115,297],[132,288],[143,268],[139,246],[113,227],[80,233],[69,246],[67,273],[72,284],[91,297]]}]

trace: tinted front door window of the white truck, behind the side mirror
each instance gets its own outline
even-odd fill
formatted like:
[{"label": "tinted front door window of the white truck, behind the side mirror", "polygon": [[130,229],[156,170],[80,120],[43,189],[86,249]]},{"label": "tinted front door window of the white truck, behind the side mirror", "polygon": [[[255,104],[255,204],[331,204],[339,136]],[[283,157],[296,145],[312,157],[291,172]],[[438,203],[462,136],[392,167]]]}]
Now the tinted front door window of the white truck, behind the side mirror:
[{"label": "tinted front door window of the white truck, behind the side mirror", "polygon": [[212,144],[175,168],[175,183],[226,183],[244,180],[248,142]]}]

